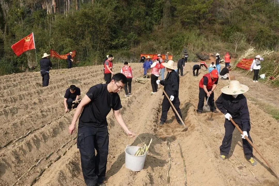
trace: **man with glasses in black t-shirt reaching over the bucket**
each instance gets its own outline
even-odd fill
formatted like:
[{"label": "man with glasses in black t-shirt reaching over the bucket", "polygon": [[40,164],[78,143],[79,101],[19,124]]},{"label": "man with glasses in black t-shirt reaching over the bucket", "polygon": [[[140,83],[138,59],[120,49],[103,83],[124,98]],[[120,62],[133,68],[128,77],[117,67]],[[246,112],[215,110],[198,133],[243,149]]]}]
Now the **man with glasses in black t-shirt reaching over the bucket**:
[{"label": "man with glasses in black t-shirt reaching over the bucket", "polygon": [[105,186],[102,182],[105,178],[109,153],[107,115],[111,109],[116,121],[126,134],[130,137],[136,136],[128,129],[120,112],[122,105],[117,92],[124,88],[126,83],[126,76],[117,73],[109,84],[92,86],[81,100],[69,126],[69,134],[73,134],[76,121],[81,114],[78,123],[77,146],[80,149],[81,169],[87,186]]}]

